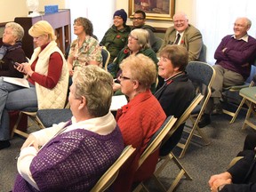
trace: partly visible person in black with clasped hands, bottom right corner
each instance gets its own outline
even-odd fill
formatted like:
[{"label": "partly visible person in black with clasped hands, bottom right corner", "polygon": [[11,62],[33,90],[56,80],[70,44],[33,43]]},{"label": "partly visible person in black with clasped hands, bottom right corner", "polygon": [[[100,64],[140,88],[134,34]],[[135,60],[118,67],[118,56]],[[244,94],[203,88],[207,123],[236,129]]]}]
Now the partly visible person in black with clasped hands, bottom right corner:
[{"label": "partly visible person in black with clasped hands, bottom right corner", "polygon": [[244,150],[237,156],[244,157],[227,172],[212,175],[208,182],[212,192],[256,191],[255,150]]}]

